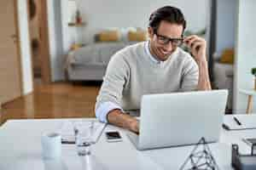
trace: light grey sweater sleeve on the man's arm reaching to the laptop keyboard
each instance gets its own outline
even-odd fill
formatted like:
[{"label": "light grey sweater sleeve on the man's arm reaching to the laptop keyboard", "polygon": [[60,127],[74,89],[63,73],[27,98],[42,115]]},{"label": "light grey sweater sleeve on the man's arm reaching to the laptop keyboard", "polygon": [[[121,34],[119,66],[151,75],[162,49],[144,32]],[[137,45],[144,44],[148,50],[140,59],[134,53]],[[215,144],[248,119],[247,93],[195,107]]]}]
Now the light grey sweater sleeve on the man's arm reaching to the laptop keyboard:
[{"label": "light grey sweater sleeve on the man's arm reaching to the laptop keyboard", "polygon": [[[106,102],[111,102],[116,107],[121,108],[121,99],[123,94],[123,89],[129,81],[130,69],[127,61],[125,60],[125,55],[122,51],[114,54],[108,63],[108,68],[103,77],[102,88],[96,98],[96,116],[102,122],[106,121],[107,113],[101,110],[98,110],[101,105]],[[102,118],[100,118],[102,117]]]}]

